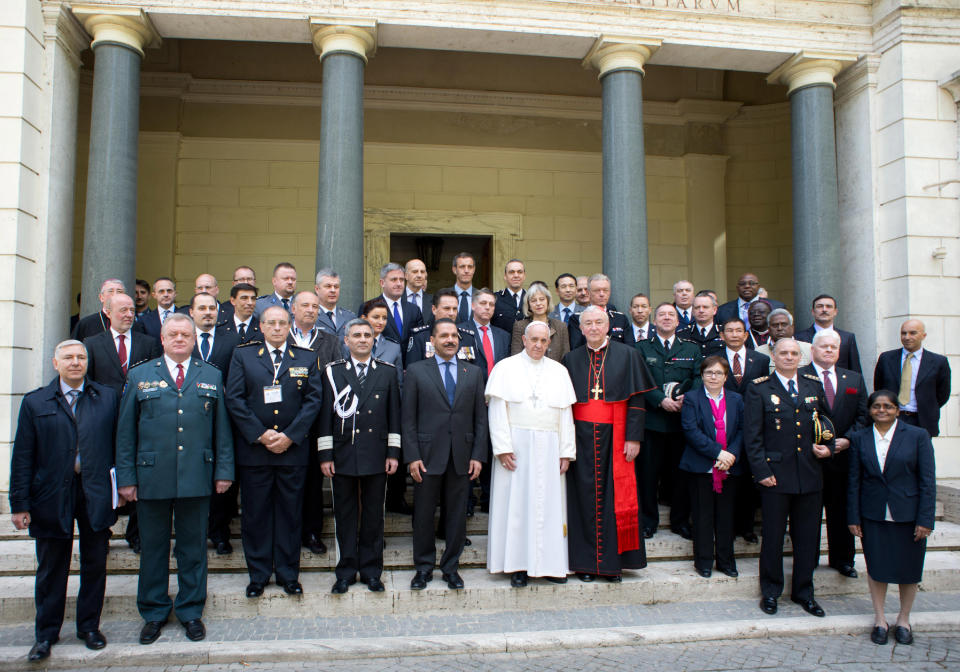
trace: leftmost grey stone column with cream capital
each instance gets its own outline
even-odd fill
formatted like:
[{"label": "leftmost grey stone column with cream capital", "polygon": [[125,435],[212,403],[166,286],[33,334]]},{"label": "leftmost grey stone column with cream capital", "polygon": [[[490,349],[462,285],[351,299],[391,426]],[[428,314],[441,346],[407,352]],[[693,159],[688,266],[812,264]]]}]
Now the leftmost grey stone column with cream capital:
[{"label": "leftmost grey stone column with cream capital", "polygon": [[138,8],[75,6],[93,36],[93,104],[87,162],[81,314],[100,308],[107,278],[133,291],[137,250],[137,143],[143,49],[160,37]]}]

